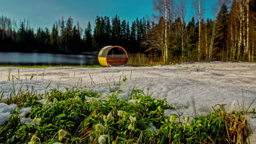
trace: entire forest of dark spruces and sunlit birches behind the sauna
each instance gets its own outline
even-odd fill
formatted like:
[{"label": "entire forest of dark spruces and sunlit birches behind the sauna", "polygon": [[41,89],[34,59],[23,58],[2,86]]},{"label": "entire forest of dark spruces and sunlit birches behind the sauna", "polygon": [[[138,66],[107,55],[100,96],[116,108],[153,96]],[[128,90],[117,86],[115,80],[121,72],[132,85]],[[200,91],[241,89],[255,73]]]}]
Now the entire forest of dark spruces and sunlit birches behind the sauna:
[{"label": "entire forest of dark spruces and sunlit birches behind the sauna", "polygon": [[203,17],[204,0],[195,0],[194,17],[186,20],[185,0],[154,0],[152,19],[129,23],[118,15],[97,16],[81,27],[63,17],[53,27],[33,29],[28,20],[17,24],[0,17],[0,51],[72,53],[100,51],[120,45],[129,53],[161,56],[164,64],[195,61],[256,60],[253,0],[218,1],[215,19]]}]

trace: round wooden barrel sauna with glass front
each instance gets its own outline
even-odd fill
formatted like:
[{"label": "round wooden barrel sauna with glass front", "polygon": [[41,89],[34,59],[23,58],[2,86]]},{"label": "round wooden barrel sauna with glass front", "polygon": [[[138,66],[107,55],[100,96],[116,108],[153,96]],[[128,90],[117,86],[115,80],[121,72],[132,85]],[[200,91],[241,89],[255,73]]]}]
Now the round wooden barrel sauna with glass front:
[{"label": "round wooden barrel sauna with glass front", "polygon": [[127,60],[127,52],[121,46],[105,46],[98,52],[98,62],[103,67],[124,66]]}]

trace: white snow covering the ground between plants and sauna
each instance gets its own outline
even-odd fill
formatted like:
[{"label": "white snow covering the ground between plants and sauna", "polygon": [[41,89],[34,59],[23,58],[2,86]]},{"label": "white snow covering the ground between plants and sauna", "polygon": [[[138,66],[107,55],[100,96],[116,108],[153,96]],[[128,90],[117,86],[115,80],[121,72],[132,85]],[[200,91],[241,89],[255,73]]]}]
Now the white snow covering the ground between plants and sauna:
[{"label": "white snow covering the ground between plants and sauna", "polygon": [[[18,73],[19,69],[19,73]],[[10,71],[10,75],[9,75]],[[10,80],[7,81],[8,76]],[[15,77],[20,77],[16,79]],[[30,78],[32,79],[30,80]],[[126,78],[125,78],[126,77]],[[127,80],[126,80],[127,79]],[[123,81],[124,80],[124,81]],[[126,80],[126,81],[125,81]],[[36,93],[45,89],[77,87],[93,89],[103,96],[121,89],[120,98],[127,98],[133,88],[144,89],[144,93],[156,99],[166,99],[176,110],[165,111],[166,115],[183,113],[194,116],[191,99],[194,97],[196,113],[206,115],[212,106],[226,104],[226,111],[239,110],[245,99],[248,107],[256,98],[256,63],[211,62],[186,63],[155,67],[113,68],[0,68],[0,95],[3,98],[14,92],[34,88]],[[104,97],[103,97],[104,98]],[[237,102],[238,101],[238,102]],[[5,109],[4,109],[5,107]],[[9,108],[8,108],[9,107]],[[256,101],[249,112],[256,109]],[[13,106],[0,104],[0,114],[8,113]],[[256,143],[256,116],[249,115],[253,130],[251,142]]]}]

